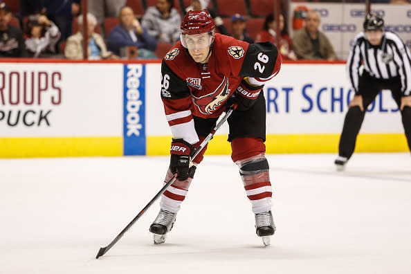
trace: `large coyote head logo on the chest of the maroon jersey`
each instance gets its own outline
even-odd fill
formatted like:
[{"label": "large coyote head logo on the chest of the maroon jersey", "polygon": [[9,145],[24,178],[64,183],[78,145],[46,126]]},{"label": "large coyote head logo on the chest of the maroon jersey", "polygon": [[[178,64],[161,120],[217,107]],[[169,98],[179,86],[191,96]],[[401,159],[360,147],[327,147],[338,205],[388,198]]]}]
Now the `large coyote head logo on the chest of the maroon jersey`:
[{"label": "large coyote head logo on the chest of the maroon jersey", "polygon": [[194,104],[199,108],[201,113],[211,114],[228,98],[228,95],[230,95],[228,78],[224,77],[223,82],[221,82],[219,87],[212,93],[201,97],[192,95],[192,97]]}]

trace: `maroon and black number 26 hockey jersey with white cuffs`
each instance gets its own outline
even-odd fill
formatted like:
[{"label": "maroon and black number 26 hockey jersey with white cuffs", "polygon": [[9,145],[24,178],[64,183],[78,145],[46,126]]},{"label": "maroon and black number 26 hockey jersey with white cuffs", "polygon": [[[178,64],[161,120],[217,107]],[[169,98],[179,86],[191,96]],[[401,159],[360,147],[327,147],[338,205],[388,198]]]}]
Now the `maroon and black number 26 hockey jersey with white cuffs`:
[{"label": "maroon and black number 26 hockey jersey with white cuffs", "polygon": [[177,42],[161,64],[161,98],[173,137],[197,143],[192,116],[219,117],[244,77],[262,85],[280,71],[281,62],[270,42],[248,44],[216,34],[208,64],[194,62]]}]

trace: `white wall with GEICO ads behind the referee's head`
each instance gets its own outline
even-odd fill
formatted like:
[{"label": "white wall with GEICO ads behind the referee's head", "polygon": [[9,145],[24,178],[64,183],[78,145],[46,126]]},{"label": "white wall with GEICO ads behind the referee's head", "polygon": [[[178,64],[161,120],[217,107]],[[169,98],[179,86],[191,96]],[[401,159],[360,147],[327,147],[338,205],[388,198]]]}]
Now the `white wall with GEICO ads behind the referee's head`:
[{"label": "white wall with GEICO ads behind the referee's head", "polygon": [[[334,46],[338,58],[346,60],[352,41],[357,33],[363,30],[365,19],[365,3],[298,3],[290,4],[290,24],[293,10],[297,6],[306,6],[320,13],[320,30],[327,35]],[[390,30],[411,47],[411,6],[392,4],[372,4],[371,11],[381,14],[385,21],[385,29]],[[291,38],[293,29],[289,28]]]}]

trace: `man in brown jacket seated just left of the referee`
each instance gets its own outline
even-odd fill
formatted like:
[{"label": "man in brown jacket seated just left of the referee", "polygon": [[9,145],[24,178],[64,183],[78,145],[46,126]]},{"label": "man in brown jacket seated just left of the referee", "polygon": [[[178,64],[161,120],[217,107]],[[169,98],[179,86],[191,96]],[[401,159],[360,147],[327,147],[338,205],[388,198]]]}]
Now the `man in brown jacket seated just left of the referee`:
[{"label": "man in brown jacket seated just left of the referee", "polygon": [[318,30],[320,14],[317,11],[307,12],[304,28],[296,31],[293,37],[293,48],[298,59],[329,60],[337,59],[333,45],[327,36]]}]

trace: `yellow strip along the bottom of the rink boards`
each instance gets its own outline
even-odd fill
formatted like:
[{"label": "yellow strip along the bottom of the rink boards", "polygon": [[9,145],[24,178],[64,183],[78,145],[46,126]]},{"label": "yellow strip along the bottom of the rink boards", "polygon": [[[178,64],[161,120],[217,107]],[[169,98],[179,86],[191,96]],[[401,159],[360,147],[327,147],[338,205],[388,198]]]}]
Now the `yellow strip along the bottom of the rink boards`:
[{"label": "yellow strip along the bottom of the rink boards", "polygon": [[[169,155],[171,136],[147,137],[147,155]],[[272,134],[266,153],[337,153],[340,134]],[[404,134],[359,134],[356,152],[408,152]],[[231,154],[226,135],[214,136],[208,155]],[[0,138],[0,158],[122,156],[122,137]]]}]

